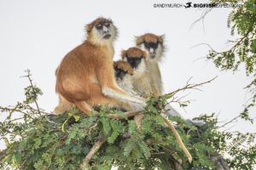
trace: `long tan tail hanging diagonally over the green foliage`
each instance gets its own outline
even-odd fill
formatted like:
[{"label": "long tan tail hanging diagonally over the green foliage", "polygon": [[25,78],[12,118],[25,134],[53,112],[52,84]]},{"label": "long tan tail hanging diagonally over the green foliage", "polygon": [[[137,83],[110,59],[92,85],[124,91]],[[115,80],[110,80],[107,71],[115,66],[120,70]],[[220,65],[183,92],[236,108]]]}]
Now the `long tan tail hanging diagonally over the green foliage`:
[{"label": "long tan tail hanging diagonally over the green foliage", "polygon": [[166,124],[168,125],[168,127],[172,130],[172,133],[174,134],[175,138],[177,139],[177,143],[179,144],[179,146],[181,147],[181,149],[183,150],[183,152],[185,153],[185,155],[188,157],[189,159],[189,163],[191,163],[192,161],[192,156],[189,153],[189,150],[186,148],[186,146],[183,144],[183,140],[180,138],[179,134],[177,133],[177,130],[175,129],[175,127],[172,125],[172,122],[168,121],[166,119],[166,117],[162,116],[164,118],[164,121],[166,122]]}]

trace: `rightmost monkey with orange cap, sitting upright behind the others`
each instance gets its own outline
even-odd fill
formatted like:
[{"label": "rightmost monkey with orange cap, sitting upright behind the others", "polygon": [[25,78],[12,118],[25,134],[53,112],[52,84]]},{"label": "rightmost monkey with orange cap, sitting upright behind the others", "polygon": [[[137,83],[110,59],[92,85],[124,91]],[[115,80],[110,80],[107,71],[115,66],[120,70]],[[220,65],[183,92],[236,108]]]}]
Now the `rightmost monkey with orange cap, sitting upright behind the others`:
[{"label": "rightmost monkey with orange cap, sitting upright behind the others", "polygon": [[150,84],[154,95],[163,93],[162,78],[158,63],[164,53],[164,36],[156,36],[152,33],[137,37],[136,45],[148,54],[147,70],[150,76]]}]

